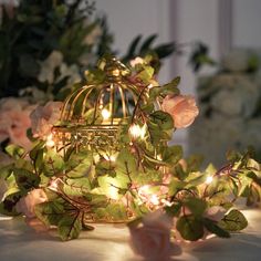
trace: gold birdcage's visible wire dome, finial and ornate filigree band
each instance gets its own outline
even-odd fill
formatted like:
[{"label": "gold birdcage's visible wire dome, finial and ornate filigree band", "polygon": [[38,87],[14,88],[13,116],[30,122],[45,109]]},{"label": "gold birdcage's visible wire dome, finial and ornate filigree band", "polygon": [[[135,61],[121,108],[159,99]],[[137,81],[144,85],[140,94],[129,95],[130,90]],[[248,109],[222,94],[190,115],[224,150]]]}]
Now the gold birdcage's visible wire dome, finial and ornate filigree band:
[{"label": "gold birdcage's visible wire dome, finial and ornate filigree band", "polygon": [[129,123],[137,103],[146,102],[146,93],[128,80],[130,71],[115,58],[102,60],[101,83],[72,92],[65,100],[60,125],[53,127],[56,147],[88,149],[114,148],[122,126]]}]

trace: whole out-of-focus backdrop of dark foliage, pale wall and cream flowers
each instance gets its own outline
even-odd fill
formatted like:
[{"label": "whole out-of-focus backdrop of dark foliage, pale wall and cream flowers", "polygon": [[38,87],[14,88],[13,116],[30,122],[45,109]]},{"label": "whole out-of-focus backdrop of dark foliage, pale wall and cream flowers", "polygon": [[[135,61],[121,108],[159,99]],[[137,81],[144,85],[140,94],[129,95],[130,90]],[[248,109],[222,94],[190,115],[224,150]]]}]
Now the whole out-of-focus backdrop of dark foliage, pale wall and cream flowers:
[{"label": "whole out-of-focus backdrop of dark foliage, pale wall and cream flowers", "polygon": [[185,155],[222,165],[229,149],[251,145],[261,154],[260,0],[0,0],[0,7],[2,144],[15,142],[10,126],[29,126],[18,116],[7,126],[7,97],[27,97],[19,109],[28,116],[32,104],[64,97],[112,52],[126,63],[153,55],[160,83],[180,75],[181,93],[197,97],[200,115],[173,140]]}]

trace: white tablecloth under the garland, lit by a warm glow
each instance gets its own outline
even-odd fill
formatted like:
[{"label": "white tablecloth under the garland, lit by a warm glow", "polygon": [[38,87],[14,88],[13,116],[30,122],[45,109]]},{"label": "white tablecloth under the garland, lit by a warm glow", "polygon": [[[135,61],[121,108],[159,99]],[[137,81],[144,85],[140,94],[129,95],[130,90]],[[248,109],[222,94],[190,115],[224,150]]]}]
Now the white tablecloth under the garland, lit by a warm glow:
[{"label": "white tablecloth under the garland, lit by a warm glow", "polygon": [[[231,239],[212,238],[182,246],[182,253],[169,260],[260,261],[261,210],[243,211],[248,228]],[[130,261],[135,257],[128,246],[128,230],[112,225],[95,225],[95,230],[81,238],[61,242],[48,233],[35,233],[21,219],[0,219],[1,261]]]}]

